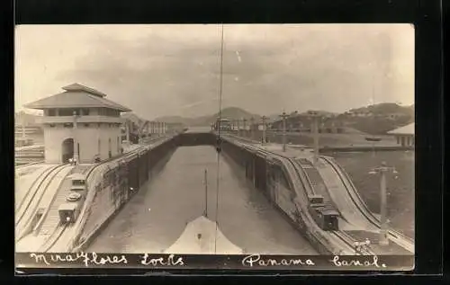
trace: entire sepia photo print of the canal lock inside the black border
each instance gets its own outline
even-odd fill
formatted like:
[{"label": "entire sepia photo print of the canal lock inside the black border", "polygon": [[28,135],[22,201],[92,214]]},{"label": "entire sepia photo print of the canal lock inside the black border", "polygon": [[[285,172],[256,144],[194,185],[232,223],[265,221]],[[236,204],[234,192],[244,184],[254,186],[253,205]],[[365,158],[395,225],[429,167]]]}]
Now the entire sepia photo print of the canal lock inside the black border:
[{"label": "entire sepia photo print of the canal lock inside the black border", "polygon": [[16,26],[16,267],[411,270],[414,46],[410,24]]}]

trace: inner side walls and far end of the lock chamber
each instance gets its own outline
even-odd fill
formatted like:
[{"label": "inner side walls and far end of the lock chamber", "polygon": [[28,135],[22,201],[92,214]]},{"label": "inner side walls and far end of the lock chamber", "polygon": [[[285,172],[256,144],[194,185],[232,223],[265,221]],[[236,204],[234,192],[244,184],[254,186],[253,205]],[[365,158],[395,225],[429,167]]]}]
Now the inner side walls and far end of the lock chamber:
[{"label": "inner side walls and far end of the lock chamber", "polygon": [[[127,159],[122,166],[117,165],[112,169],[104,170],[102,183],[88,185],[89,191],[95,191],[95,196],[88,211],[89,216],[86,218],[85,227],[78,240],[79,243],[95,236],[99,228],[103,227],[126,201],[130,200],[132,194],[138,191],[140,186],[146,183],[148,179],[153,179],[162,165],[166,164],[176,147],[193,145],[194,143],[216,146],[217,143],[214,134],[202,134],[197,138],[194,134],[183,135],[185,134],[168,139],[157,147],[150,148]],[[303,197],[305,195],[298,197],[293,189],[293,182],[289,181],[289,176],[285,174],[284,167],[269,163],[266,157],[257,156],[227,140],[222,140],[220,145],[222,155],[238,165],[238,167],[233,167],[236,168],[236,172],[247,177],[249,183],[263,191],[267,199],[275,205],[275,208],[279,209],[284,217],[293,223],[293,226],[298,228],[302,234],[309,236],[312,243],[316,241],[319,248],[320,246],[323,247],[317,241],[317,238],[310,233],[308,227],[305,226],[305,221],[301,218],[302,209],[298,209],[294,199],[305,199]],[[130,191],[130,188],[133,191]],[[79,248],[83,250],[83,246]]]}]

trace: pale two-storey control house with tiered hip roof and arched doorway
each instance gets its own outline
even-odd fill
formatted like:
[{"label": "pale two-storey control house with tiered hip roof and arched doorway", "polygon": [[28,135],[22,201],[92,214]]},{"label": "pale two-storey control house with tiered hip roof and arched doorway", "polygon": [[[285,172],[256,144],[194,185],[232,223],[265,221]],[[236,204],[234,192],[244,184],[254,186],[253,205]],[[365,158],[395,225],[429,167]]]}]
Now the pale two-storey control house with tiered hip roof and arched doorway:
[{"label": "pale two-storey control house with tiered hip roof and arched doorway", "polygon": [[44,111],[39,122],[44,130],[45,161],[93,163],[121,154],[121,112],[129,108],[106,99],[84,85],[72,84],[64,92],[25,104]]}]

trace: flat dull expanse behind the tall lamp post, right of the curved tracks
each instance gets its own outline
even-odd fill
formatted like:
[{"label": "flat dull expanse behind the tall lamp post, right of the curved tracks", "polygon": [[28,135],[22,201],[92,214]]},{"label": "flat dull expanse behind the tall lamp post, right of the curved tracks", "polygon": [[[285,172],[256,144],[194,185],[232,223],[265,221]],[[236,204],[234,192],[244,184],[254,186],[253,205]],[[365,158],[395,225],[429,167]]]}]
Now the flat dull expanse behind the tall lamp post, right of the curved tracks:
[{"label": "flat dull expanse behind the tall lamp post, right of the curved tracks", "polygon": [[374,213],[380,213],[380,178],[368,172],[381,165],[394,166],[398,173],[387,175],[388,218],[393,228],[414,237],[414,153],[405,151],[361,153],[335,153],[333,156],[342,165],[355,183],[365,203]]}]

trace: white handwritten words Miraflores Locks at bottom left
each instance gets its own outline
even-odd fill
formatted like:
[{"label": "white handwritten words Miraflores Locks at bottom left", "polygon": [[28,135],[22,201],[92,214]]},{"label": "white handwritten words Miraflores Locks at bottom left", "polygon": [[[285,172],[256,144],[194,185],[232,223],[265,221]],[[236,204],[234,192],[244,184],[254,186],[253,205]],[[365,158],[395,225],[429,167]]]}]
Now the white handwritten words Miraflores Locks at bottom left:
[{"label": "white handwritten words Miraflores Locks at bottom left", "polygon": [[[51,265],[52,263],[84,263],[89,265],[125,265],[129,261],[123,254],[76,253],[76,254],[30,254],[35,263]],[[165,257],[150,257],[149,254],[139,255],[139,263],[146,266],[180,266],[184,265],[183,257],[175,258],[174,254]]]}]

